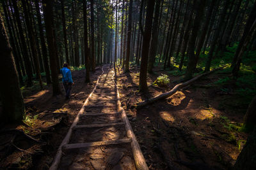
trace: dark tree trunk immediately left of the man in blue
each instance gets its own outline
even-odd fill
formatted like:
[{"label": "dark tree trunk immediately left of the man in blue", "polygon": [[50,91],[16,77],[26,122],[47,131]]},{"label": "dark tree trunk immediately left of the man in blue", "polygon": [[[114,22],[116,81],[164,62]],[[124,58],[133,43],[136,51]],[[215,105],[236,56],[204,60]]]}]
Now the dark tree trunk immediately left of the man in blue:
[{"label": "dark tree trunk immediately left of the man in blue", "polygon": [[57,70],[57,60],[56,60],[56,48],[54,46],[54,30],[53,28],[53,12],[52,12],[52,1],[43,0],[44,8],[44,18],[45,18],[45,29],[47,36],[48,49],[50,54],[50,67],[51,67],[51,77],[52,77],[52,93],[53,95],[61,94],[58,70]]}]

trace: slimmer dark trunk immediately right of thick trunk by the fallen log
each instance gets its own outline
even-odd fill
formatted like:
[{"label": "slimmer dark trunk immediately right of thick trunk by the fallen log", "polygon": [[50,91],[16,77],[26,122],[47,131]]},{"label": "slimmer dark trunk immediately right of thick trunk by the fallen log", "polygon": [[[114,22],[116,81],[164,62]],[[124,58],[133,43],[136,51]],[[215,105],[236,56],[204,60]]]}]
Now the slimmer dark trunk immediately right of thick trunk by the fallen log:
[{"label": "slimmer dark trunk immediately right of thick trunk by the fallen log", "polygon": [[157,27],[158,27],[158,19],[159,19],[159,10],[160,10],[160,0],[156,0],[155,17],[154,17],[154,22],[152,26],[152,39],[151,39],[149,59],[148,59],[148,73],[153,72],[152,69],[154,67],[154,62],[156,59]]}]

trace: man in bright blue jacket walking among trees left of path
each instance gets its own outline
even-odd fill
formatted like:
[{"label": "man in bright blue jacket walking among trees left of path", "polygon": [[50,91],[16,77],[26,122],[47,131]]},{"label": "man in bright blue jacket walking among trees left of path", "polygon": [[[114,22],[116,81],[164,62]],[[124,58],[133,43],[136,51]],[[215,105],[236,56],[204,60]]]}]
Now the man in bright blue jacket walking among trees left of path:
[{"label": "man in bright blue jacket walking among trees left of path", "polygon": [[74,82],[72,80],[71,71],[67,62],[63,64],[63,68],[60,69],[60,73],[62,74],[62,82],[66,92],[66,99],[70,99],[69,95]]}]

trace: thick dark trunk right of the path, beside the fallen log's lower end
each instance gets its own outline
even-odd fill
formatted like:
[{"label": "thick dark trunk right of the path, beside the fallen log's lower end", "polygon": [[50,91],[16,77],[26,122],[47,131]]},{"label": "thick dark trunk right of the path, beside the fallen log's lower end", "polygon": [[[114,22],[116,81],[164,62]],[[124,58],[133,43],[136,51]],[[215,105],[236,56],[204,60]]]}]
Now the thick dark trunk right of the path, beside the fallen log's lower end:
[{"label": "thick dark trunk right of the path, beside the fallen log's lower end", "polygon": [[141,66],[140,66],[140,91],[147,92],[147,66],[148,66],[148,52],[152,31],[152,20],[154,13],[155,0],[148,1],[147,16],[145,22],[145,31],[143,34],[143,45],[141,52]]}]

